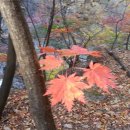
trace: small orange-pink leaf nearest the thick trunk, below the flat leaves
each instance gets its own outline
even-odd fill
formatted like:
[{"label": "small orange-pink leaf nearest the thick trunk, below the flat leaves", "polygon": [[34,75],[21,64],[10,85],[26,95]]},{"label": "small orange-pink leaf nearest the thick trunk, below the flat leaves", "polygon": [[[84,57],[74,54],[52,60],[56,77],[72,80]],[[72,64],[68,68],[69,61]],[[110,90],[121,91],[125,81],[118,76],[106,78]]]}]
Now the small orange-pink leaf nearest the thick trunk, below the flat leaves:
[{"label": "small orange-pink leaf nearest the thick trunk, below the flat leaves", "polygon": [[60,67],[63,63],[64,61],[62,59],[56,58],[52,55],[46,56],[45,59],[39,60],[41,70],[53,70]]}]

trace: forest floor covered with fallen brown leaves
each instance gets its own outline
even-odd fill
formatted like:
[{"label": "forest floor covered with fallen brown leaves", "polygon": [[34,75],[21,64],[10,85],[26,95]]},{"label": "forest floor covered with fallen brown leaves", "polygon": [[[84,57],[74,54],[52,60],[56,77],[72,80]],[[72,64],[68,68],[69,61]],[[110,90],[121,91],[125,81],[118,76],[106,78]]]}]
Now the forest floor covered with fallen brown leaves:
[{"label": "forest floor covered with fallen brown leaves", "polygon": [[[118,90],[85,91],[86,104],[75,102],[72,112],[63,105],[52,108],[57,130],[130,130],[130,78],[104,49],[103,64],[117,76]],[[114,50],[130,70],[130,51]],[[12,89],[0,122],[0,130],[35,130],[25,89]]]}]

